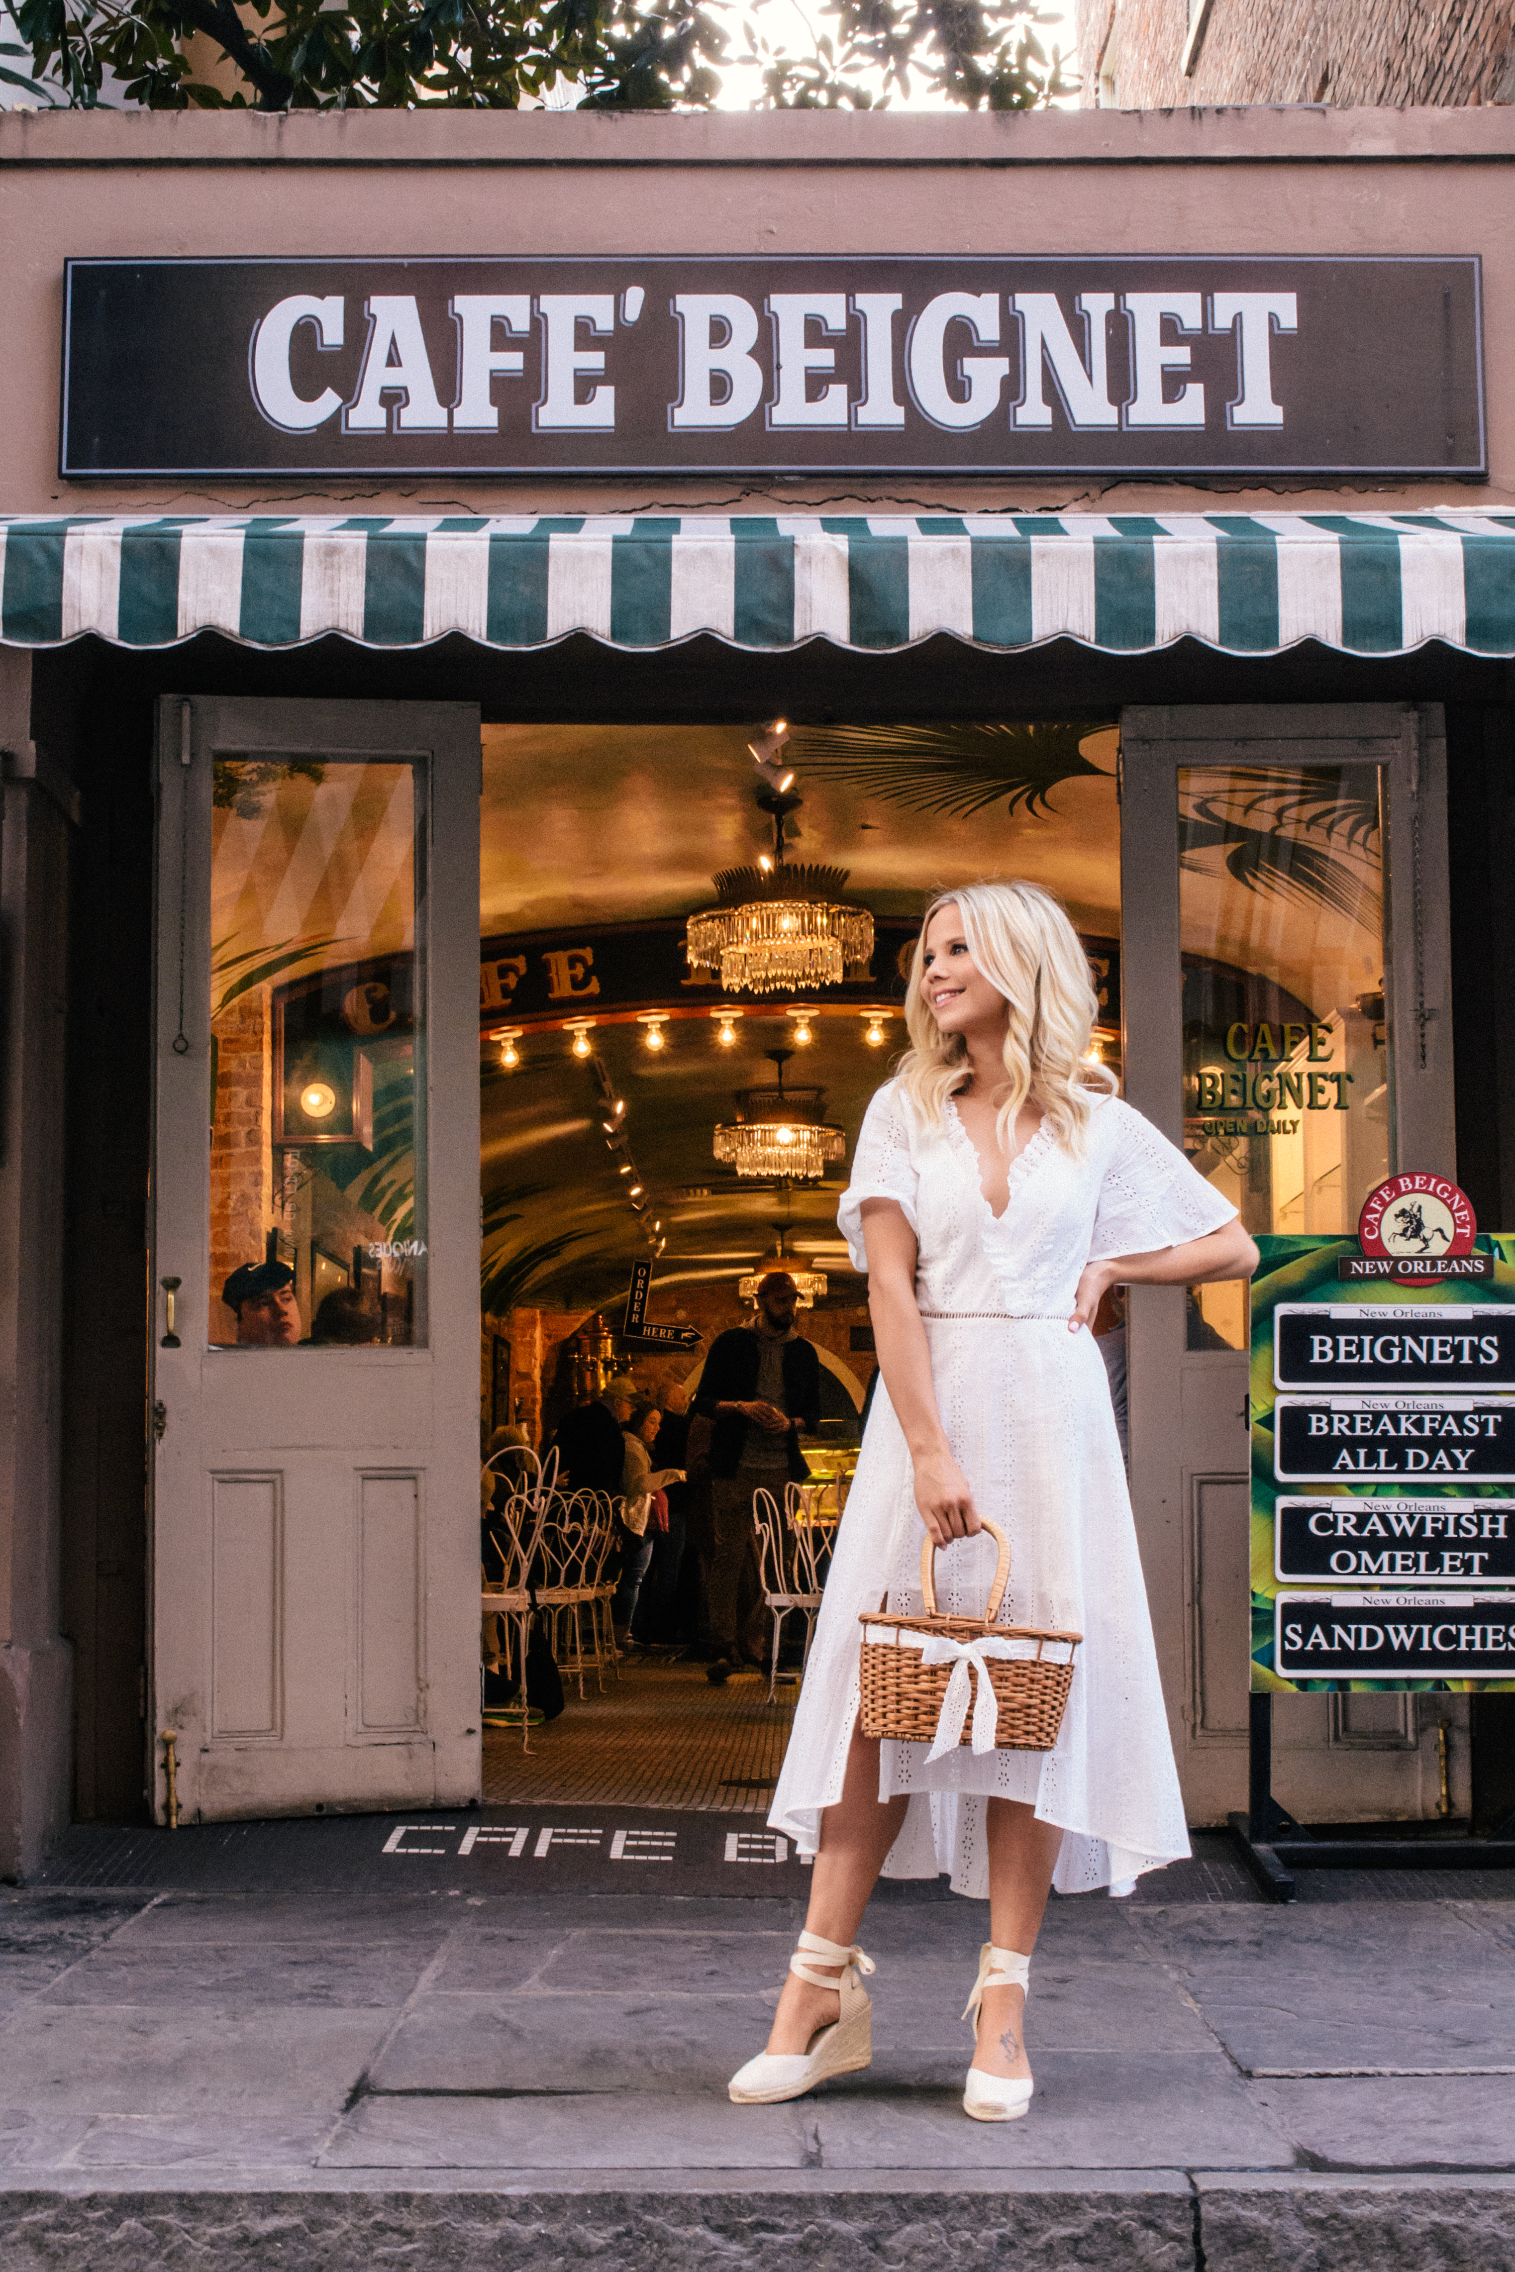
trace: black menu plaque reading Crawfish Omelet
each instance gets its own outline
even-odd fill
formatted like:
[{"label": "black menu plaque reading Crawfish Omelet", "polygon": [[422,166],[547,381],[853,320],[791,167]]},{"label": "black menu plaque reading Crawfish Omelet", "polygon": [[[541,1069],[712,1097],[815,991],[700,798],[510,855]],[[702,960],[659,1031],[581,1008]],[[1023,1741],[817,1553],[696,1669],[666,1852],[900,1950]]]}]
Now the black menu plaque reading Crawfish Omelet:
[{"label": "black menu plaque reading Crawfish Omelet", "polygon": [[1515,1586],[1515,1500],[1279,1500],[1274,1577],[1288,1584]]}]

